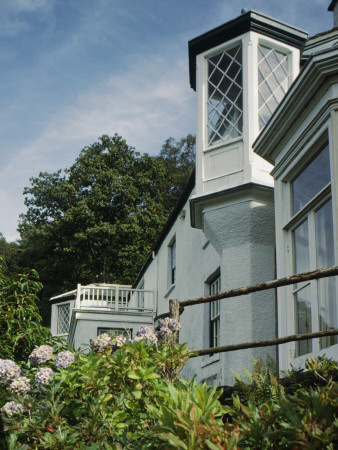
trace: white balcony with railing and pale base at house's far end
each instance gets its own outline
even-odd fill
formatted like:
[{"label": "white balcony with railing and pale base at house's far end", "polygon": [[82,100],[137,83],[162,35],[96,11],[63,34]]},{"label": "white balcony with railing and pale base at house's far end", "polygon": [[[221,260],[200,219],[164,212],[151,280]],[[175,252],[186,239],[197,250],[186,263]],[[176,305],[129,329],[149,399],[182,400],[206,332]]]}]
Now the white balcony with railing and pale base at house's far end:
[{"label": "white balcony with railing and pale base at house's far end", "polygon": [[52,297],[51,332],[75,348],[85,346],[102,330],[135,335],[154,322],[154,291],[127,285],[90,284]]}]

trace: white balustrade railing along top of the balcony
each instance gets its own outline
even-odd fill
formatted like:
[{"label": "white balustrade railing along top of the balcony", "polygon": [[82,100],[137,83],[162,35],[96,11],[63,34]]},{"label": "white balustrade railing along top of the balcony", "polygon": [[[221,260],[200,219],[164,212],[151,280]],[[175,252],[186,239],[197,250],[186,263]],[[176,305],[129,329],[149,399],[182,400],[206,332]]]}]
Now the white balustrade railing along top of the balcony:
[{"label": "white balustrade railing along top of the balcony", "polygon": [[153,312],[154,291],[117,284],[77,286],[76,309],[107,309],[120,312]]}]

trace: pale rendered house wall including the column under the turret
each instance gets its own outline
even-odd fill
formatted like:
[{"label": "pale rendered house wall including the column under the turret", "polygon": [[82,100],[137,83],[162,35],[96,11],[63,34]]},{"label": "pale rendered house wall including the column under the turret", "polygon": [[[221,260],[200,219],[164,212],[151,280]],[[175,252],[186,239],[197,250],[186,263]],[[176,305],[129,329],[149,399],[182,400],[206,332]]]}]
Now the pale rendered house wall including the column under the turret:
[{"label": "pale rendered house wall including the column under the turret", "polygon": [[[194,195],[194,191],[191,197]],[[204,231],[190,225],[190,204],[183,207],[158,253],[146,269],[144,288],[156,288],[157,314],[169,310],[169,299],[209,295],[209,282],[217,271],[221,290],[242,287],[274,278],[273,193],[255,201],[246,196],[204,213]],[[169,248],[176,239],[176,279],[168,284]],[[274,293],[259,293],[221,301],[220,345],[235,344],[275,336]],[[189,348],[209,347],[209,305],[186,307],[180,317],[180,342]],[[230,385],[231,370],[250,369],[252,357],[275,359],[274,348],[250,349],[228,354],[203,356],[189,360],[182,372],[198,381]]]}]

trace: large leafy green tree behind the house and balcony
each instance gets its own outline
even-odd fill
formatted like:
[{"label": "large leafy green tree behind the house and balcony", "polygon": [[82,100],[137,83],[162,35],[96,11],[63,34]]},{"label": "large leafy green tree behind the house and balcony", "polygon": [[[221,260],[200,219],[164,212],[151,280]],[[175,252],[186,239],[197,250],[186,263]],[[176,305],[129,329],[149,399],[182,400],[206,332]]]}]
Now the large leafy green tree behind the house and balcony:
[{"label": "large leafy green tree behind the house and balcony", "polygon": [[77,283],[134,280],[191,172],[193,141],[169,139],[154,157],[102,136],[69,169],[30,179],[20,264],[38,270],[45,300]]}]

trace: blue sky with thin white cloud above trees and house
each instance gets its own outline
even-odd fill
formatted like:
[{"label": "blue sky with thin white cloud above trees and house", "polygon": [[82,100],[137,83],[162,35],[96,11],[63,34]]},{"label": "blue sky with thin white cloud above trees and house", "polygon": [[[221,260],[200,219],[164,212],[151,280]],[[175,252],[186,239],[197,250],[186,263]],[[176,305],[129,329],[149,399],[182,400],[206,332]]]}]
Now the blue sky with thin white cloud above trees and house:
[{"label": "blue sky with thin white cloud above trees and house", "polygon": [[0,0],[0,233],[19,238],[23,190],[115,133],[158,154],[195,134],[188,41],[252,9],[309,32],[330,0]]}]

